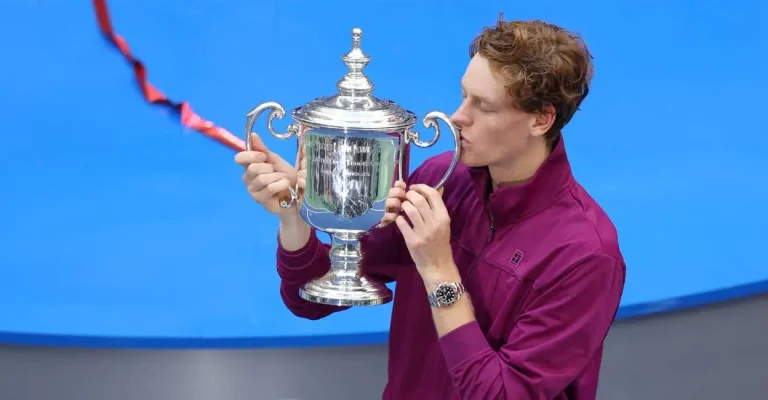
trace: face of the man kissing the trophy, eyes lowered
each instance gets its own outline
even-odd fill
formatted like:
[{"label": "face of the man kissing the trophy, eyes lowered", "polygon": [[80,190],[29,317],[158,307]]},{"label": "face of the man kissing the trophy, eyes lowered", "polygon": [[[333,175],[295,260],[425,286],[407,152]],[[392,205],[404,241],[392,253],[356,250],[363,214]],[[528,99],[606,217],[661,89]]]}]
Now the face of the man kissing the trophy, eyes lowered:
[{"label": "face of the man kissing the trophy, eyes lowered", "polygon": [[461,80],[463,102],[453,114],[461,128],[461,162],[469,167],[514,164],[542,139],[537,117],[512,105],[504,82],[488,60],[475,55]]}]

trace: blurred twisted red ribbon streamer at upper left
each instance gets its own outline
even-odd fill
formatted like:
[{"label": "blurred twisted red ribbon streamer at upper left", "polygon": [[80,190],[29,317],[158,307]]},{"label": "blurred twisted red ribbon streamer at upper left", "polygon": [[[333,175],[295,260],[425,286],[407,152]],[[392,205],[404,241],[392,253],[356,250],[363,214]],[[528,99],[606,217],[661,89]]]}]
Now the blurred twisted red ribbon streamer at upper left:
[{"label": "blurred twisted red ribbon streamer at upper left", "polygon": [[[96,9],[96,18],[99,21],[101,32],[120,50],[121,53],[123,53],[125,59],[133,64],[134,75],[136,75],[139,87],[141,87],[141,91],[144,93],[144,98],[148,102],[171,108],[173,111],[180,114],[181,124],[188,128],[194,129],[235,151],[245,150],[245,141],[229,133],[226,129],[214,125],[213,122],[204,120],[192,111],[192,108],[190,108],[189,103],[186,101],[180,103],[171,101],[156,87],[152,86],[152,84],[147,81],[147,69],[144,67],[144,64],[131,54],[125,39],[112,30],[112,21],[109,18],[106,0],[93,0],[93,6]],[[252,136],[256,139],[256,142],[261,142],[256,135]],[[263,143],[258,143],[257,148],[258,147],[263,147]],[[266,150],[266,148],[264,147],[259,150]]]}]

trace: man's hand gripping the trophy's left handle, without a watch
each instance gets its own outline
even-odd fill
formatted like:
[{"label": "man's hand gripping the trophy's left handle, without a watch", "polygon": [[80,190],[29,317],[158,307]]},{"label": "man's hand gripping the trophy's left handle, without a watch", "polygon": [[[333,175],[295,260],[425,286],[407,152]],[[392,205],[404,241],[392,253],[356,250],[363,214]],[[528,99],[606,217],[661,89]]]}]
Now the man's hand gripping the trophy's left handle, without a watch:
[{"label": "man's hand gripping the trophy's left handle, without a watch", "polygon": [[255,134],[251,135],[251,149],[235,155],[235,162],[245,168],[243,183],[248,193],[272,214],[297,215],[297,207],[280,206],[281,200],[290,200],[288,189],[296,187],[296,168],[269,151]]}]

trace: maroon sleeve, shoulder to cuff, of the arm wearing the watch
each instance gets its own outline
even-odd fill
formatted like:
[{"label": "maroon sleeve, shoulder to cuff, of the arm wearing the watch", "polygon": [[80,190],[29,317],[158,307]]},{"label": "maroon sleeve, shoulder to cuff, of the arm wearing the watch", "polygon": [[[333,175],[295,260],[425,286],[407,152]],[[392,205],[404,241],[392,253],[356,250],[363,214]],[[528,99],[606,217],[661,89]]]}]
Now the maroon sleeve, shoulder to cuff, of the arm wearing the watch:
[{"label": "maroon sleeve, shoulder to cuff, of the arm wearing the watch", "polygon": [[460,398],[554,398],[602,349],[623,286],[622,263],[592,256],[509,321],[514,326],[500,349],[489,345],[476,321],[444,335],[440,346]]}]

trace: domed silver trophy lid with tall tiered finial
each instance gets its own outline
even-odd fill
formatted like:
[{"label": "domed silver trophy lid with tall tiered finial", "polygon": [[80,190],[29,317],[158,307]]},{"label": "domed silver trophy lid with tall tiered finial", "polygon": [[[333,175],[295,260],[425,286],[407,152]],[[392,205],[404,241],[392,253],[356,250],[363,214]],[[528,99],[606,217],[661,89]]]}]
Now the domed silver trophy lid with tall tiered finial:
[{"label": "domed silver trophy lid with tall tiered finial", "polygon": [[371,58],[360,49],[363,32],[352,30],[352,50],[341,59],[349,69],[336,84],[338,94],[317,99],[293,110],[303,125],[333,129],[399,131],[416,122],[414,113],[371,93],[373,83],[363,73]]}]

